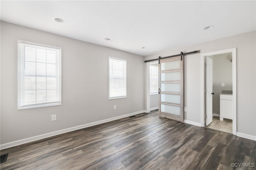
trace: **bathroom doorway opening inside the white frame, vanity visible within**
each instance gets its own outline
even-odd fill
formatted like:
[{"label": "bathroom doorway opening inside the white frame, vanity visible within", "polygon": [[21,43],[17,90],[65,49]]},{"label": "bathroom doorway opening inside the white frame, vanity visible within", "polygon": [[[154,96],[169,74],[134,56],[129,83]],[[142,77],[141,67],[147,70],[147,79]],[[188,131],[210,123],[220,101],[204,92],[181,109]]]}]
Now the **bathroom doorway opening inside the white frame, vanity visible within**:
[{"label": "bathroom doorway opening inside the white frame, vanity visible within", "polygon": [[232,53],[205,58],[205,126],[232,133]]}]

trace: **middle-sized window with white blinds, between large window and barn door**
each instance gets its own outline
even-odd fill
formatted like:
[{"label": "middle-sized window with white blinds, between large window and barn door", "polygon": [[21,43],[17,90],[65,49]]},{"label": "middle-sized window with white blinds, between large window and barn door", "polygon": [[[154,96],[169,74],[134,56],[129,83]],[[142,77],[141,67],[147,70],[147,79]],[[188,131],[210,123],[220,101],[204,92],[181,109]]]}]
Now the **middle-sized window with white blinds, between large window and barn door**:
[{"label": "middle-sized window with white blinds, between large window and barn door", "polygon": [[126,60],[109,57],[109,99],[126,97]]}]

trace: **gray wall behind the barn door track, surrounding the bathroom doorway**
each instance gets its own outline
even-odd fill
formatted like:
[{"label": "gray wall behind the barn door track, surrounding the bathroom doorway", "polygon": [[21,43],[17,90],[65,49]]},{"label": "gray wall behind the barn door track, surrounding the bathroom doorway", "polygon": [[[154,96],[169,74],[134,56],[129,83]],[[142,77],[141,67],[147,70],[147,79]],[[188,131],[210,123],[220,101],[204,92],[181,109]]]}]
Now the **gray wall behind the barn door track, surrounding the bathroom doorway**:
[{"label": "gray wall behind the barn door track, surrounding the bathroom doorway", "polygon": [[[186,38],[184,38],[186,41]],[[147,55],[145,60],[200,50],[237,48],[237,132],[256,136],[256,31]],[[184,119],[200,123],[200,54],[184,57]]]}]

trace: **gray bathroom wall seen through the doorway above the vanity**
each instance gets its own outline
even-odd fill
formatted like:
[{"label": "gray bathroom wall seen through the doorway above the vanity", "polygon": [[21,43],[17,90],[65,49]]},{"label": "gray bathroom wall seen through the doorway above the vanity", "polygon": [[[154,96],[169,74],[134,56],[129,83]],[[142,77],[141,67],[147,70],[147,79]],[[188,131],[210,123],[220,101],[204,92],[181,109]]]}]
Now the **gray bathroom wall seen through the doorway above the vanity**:
[{"label": "gray bathroom wall seen through the doorway above the vanity", "polygon": [[[232,90],[232,53],[213,55],[212,113],[220,114],[220,93]],[[225,87],[221,87],[225,83]]]}]

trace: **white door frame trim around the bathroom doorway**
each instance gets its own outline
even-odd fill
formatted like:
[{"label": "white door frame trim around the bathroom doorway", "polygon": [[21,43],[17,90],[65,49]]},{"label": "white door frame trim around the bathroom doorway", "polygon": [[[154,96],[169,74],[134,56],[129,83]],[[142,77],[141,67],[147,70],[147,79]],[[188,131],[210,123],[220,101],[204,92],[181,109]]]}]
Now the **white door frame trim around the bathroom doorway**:
[{"label": "white door frame trim around the bathroom doorway", "polygon": [[224,49],[220,51],[214,51],[209,53],[202,53],[200,56],[201,60],[201,127],[205,127],[205,69],[204,69],[204,63],[205,63],[205,57],[210,55],[218,55],[223,53],[232,53],[232,90],[233,90],[233,121],[232,121],[232,132],[234,135],[236,135],[236,48],[230,48],[230,49]]}]

